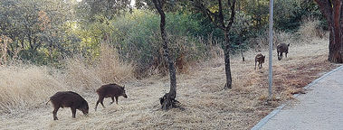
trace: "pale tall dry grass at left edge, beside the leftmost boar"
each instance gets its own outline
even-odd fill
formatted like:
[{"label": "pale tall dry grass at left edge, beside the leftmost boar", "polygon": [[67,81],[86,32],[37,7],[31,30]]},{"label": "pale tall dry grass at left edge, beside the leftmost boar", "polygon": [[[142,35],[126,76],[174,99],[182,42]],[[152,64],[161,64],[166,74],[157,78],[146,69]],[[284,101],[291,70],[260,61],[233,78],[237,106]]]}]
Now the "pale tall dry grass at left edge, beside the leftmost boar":
[{"label": "pale tall dry grass at left edge, beside the leftmost boar", "polygon": [[52,69],[28,64],[0,66],[0,113],[36,107],[57,90],[66,90]]}]

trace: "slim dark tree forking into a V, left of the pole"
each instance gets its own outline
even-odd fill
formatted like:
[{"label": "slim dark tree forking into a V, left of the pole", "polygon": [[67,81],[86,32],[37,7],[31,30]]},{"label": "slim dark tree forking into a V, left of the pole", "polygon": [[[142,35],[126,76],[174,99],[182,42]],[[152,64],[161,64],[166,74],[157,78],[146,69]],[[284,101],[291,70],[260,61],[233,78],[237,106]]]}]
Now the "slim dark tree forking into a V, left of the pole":
[{"label": "slim dark tree forking into a V, left of the pole", "polygon": [[[205,3],[203,0],[194,0],[195,7],[200,9],[211,20],[214,25],[224,31],[224,61],[226,83],[224,88],[232,88],[232,77],[230,69],[230,37],[229,32],[234,20],[234,5],[235,0],[227,0],[227,7],[223,5],[222,0],[217,0],[217,3]],[[206,7],[206,4],[211,7]],[[217,7],[217,8],[216,8]],[[227,11],[227,10],[229,11]],[[213,11],[214,10],[214,11]],[[228,12],[229,14],[225,14]]]}]

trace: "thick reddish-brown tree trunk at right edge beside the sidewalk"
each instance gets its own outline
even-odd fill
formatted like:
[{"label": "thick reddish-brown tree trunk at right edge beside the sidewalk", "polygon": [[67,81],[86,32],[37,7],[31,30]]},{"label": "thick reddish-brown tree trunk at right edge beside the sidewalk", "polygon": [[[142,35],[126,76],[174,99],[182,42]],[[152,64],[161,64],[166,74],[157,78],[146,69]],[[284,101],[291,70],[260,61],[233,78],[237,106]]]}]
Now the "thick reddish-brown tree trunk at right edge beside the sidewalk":
[{"label": "thick reddish-brown tree trunk at right edge beside the sidewalk", "polygon": [[343,63],[343,2],[315,0],[329,25],[329,61]]}]

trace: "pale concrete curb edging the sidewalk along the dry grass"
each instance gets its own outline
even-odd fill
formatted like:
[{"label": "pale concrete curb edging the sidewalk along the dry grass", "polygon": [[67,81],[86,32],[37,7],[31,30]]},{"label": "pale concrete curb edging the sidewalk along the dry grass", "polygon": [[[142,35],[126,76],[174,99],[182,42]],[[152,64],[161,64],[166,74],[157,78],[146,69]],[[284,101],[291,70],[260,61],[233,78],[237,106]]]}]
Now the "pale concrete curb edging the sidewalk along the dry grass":
[{"label": "pale concrete curb edging the sidewalk along the dry grass", "polygon": [[[328,77],[331,73],[337,71],[337,70],[340,70],[343,68],[343,65],[340,65],[337,69],[335,70],[331,70],[329,71],[328,73],[324,74],[323,76],[319,77],[319,79],[315,79],[313,80],[310,84],[308,84],[306,87],[304,87],[305,89],[308,89],[310,88],[311,86],[315,85],[316,83],[318,83],[321,79],[324,79],[326,77]],[[293,95],[295,98],[297,98],[300,94],[295,94]],[[251,130],[259,130],[263,125],[265,125],[273,116],[276,116],[283,107],[285,107],[286,105],[290,104],[291,103],[291,100],[290,101],[287,101],[286,103],[282,104],[281,106],[279,107],[276,107],[274,110],[272,110],[272,112],[270,114],[268,114],[267,116],[263,117],[259,123],[257,123],[256,125],[254,125],[252,127]]]}]

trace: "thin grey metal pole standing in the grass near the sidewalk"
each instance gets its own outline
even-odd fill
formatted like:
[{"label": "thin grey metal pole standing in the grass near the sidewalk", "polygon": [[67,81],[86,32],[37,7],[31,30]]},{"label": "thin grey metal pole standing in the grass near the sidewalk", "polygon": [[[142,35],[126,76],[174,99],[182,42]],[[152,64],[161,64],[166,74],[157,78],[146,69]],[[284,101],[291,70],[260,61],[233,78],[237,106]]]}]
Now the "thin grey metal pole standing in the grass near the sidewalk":
[{"label": "thin grey metal pole standing in the grass near the sidewalk", "polygon": [[272,6],[274,1],[269,1],[269,98],[272,98]]}]

